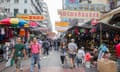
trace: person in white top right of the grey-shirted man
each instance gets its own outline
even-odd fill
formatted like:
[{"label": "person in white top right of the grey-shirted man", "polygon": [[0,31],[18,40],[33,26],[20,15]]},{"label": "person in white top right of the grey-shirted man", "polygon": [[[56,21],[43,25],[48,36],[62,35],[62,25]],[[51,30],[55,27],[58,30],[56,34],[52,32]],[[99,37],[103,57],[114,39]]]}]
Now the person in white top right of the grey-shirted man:
[{"label": "person in white top right of the grey-shirted man", "polygon": [[85,58],[84,47],[81,47],[81,48],[78,49],[78,52],[77,52],[77,55],[76,55],[77,67],[79,67],[80,64],[84,63],[84,58]]}]

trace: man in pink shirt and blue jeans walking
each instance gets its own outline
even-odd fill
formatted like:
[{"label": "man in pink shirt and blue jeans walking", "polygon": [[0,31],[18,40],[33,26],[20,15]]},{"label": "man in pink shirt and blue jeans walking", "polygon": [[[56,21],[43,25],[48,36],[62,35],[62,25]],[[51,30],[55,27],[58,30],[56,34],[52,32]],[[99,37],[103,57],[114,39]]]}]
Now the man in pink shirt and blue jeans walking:
[{"label": "man in pink shirt and blue jeans walking", "polygon": [[34,72],[35,64],[38,65],[38,72],[40,72],[40,53],[41,53],[41,45],[38,43],[37,38],[33,38],[33,42],[30,45],[31,48],[31,66],[30,72]]}]

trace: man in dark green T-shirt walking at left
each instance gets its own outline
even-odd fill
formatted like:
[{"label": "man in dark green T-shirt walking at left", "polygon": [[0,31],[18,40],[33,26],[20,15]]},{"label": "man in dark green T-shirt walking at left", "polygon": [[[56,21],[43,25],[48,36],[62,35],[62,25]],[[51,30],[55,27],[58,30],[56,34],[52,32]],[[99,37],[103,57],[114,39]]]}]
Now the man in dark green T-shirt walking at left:
[{"label": "man in dark green T-shirt walking at left", "polygon": [[11,57],[15,60],[16,72],[20,72],[23,56],[26,59],[25,45],[22,43],[21,38],[18,37],[11,54]]}]

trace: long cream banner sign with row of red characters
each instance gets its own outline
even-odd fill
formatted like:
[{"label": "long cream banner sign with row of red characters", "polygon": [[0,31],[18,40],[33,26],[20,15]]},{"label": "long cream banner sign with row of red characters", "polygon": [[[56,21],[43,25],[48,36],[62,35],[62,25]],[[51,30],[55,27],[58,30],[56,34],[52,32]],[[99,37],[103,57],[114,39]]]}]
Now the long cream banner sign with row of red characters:
[{"label": "long cream banner sign with row of red characters", "polygon": [[75,10],[59,10],[58,14],[61,18],[82,18],[82,19],[100,19],[100,12],[97,11],[75,11]]}]

